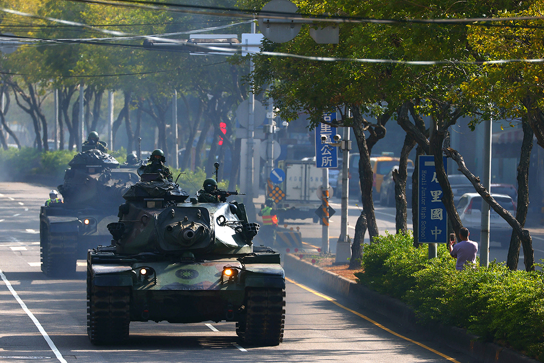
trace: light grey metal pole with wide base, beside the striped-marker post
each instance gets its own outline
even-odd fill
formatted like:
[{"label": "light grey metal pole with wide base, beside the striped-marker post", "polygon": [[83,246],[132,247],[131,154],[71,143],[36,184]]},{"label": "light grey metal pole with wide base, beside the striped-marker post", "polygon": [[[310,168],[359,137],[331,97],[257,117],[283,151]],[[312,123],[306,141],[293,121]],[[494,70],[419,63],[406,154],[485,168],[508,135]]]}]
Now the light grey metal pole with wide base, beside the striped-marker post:
[{"label": "light grey metal pole with wide base, beside the striped-marker post", "polygon": [[340,237],[336,242],[336,264],[348,263],[351,257],[351,245],[348,236],[348,205],[349,205],[349,127],[343,127],[342,140],[342,211],[340,217]]}]

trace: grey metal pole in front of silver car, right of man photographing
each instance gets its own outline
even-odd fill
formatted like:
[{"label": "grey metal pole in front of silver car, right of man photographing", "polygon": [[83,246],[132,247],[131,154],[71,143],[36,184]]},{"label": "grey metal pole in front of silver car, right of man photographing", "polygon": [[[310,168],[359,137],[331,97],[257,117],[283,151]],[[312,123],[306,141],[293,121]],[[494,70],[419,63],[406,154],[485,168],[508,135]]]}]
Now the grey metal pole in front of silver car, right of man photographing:
[{"label": "grey metal pole in front of silver car, right of man photographing", "polygon": [[[485,122],[484,136],[484,178],[482,184],[491,192],[491,120]],[[481,201],[480,266],[489,265],[489,204]]]}]

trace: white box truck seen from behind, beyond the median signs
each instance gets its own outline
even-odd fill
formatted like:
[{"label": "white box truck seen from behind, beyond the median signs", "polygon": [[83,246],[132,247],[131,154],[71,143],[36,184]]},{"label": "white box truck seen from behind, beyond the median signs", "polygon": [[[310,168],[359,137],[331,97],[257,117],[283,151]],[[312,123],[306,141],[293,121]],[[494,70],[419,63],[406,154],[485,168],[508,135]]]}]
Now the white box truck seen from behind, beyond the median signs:
[{"label": "white box truck seen from behind, beyond the median signs", "polygon": [[323,169],[316,167],[315,161],[303,160],[281,160],[277,167],[285,171],[285,180],[280,184],[285,197],[277,208],[288,208],[277,213],[280,225],[285,219],[312,218],[317,223],[316,210],[322,205],[317,190],[323,184]]}]

